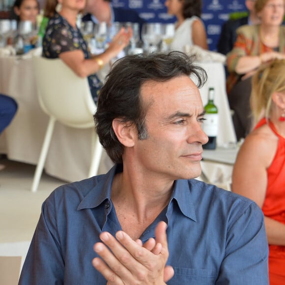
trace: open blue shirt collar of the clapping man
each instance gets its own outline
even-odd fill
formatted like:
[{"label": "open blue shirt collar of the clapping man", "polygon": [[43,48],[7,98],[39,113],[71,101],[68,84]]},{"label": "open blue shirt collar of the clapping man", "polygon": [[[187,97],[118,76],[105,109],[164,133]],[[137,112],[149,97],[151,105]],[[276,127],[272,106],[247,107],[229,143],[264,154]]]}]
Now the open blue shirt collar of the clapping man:
[{"label": "open blue shirt collar of the clapping man", "polygon": [[[121,171],[122,165],[115,165],[107,174],[96,176],[95,179],[98,180],[98,183],[80,202],[77,209],[82,210],[95,208],[106,199],[111,201],[111,189],[114,175]],[[176,180],[174,182],[170,204],[172,200],[175,199],[182,214],[196,222],[195,207],[191,197],[190,185],[191,183],[189,183],[189,180]]]}]

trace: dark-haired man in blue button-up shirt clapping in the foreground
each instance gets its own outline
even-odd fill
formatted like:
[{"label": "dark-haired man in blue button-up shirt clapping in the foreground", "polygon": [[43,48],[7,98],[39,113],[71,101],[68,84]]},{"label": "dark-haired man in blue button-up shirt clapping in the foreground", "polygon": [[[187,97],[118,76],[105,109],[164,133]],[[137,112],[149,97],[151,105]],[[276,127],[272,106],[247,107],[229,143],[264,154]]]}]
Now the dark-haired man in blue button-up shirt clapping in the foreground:
[{"label": "dark-haired man in blue button-up shirt clapping in the foreground", "polygon": [[268,285],[260,208],[192,179],[208,138],[190,76],[206,80],[180,52],[114,64],[94,119],[116,165],[46,199],[20,285]]}]

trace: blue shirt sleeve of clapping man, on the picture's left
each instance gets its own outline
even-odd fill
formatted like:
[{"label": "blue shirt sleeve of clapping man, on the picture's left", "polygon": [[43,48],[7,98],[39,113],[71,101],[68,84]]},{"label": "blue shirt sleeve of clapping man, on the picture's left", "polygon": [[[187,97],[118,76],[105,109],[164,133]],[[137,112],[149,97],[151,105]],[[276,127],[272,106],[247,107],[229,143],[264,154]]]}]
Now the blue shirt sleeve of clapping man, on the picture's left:
[{"label": "blue shirt sleeve of clapping man, on the picture's left", "polygon": [[55,207],[50,198],[42,205],[19,285],[64,283],[64,260],[57,235]]}]

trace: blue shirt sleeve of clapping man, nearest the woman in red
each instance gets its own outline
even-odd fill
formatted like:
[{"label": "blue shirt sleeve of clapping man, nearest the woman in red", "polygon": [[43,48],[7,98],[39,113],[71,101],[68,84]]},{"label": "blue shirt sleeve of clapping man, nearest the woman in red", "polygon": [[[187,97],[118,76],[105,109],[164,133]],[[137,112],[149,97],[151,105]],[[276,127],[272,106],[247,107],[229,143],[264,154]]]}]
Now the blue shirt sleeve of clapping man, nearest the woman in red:
[{"label": "blue shirt sleeve of clapping man, nearest the woman in red", "polygon": [[225,258],[216,285],[269,285],[264,216],[256,203],[229,226]]}]

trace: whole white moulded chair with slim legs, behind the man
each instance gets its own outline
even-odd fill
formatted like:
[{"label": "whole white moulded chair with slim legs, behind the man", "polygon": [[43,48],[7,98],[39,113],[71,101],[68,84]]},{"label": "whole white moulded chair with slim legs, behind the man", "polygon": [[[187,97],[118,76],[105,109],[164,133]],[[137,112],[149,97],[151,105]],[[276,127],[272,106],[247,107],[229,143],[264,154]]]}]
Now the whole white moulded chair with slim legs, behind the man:
[{"label": "whole white moulded chair with slim legs, behind the man", "polygon": [[93,114],[96,112],[96,105],[91,97],[87,78],[78,77],[59,58],[33,57],[33,64],[39,103],[43,111],[50,116],[32,182],[31,191],[36,192],[56,121],[73,128],[94,129],[89,177],[97,174],[103,148],[95,133]]}]

